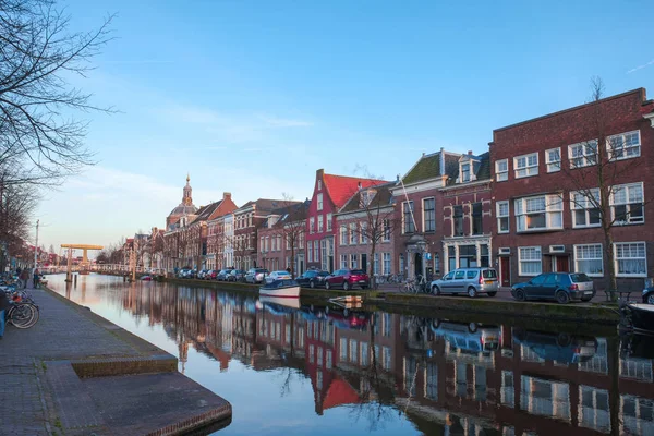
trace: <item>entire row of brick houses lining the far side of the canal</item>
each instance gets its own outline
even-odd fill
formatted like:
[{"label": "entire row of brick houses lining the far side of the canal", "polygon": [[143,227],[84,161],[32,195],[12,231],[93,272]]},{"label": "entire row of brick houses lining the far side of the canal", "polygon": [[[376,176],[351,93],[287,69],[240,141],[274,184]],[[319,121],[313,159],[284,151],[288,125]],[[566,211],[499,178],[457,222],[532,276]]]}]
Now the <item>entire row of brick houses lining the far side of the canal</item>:
[{"label": "entire row of brick houses lining the far side of the canal", "polygon": [[186,178],[166,228],[143,238],[159,247],[148,264],[169,271],[494,266],[504,286],[580,271],[604,288],[615,268],[641,288],[654,275],[653,171],[654,101],[639,88],[496,129],[481,154],[423,154],[396,181],[319,169],[305,202],[225,193],[196,208]]}]

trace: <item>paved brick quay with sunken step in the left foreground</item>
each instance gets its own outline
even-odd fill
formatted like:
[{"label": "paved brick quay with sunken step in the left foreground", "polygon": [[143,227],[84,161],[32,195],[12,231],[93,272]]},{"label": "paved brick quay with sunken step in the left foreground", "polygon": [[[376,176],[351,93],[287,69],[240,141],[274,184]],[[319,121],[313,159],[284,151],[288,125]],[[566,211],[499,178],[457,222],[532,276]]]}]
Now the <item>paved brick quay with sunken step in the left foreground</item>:
[{"label": "paved brick quay with sunken step in the left foreground", "polygon": [[29,435],[208,434],[231,404],[178,372],[175,356],[49,289],[40,318],[0,341],[2,432]]}]

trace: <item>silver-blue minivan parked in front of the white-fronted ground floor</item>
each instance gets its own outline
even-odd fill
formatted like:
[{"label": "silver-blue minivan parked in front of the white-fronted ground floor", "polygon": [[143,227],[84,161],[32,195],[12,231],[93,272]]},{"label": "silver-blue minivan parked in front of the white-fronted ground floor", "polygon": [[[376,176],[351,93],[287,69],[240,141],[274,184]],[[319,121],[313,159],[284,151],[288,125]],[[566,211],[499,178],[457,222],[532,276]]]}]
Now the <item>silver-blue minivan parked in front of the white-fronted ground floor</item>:
[{"label": "silver-blue minivan parked in front of the white-fronted ground floor", "polygon": [[458,268],[432,281],[431,289],[435,295],[465,293],[472,298],[479,293],[486,293],[488,296],[495,296],[499,282],[497,271],[493,268]]}]

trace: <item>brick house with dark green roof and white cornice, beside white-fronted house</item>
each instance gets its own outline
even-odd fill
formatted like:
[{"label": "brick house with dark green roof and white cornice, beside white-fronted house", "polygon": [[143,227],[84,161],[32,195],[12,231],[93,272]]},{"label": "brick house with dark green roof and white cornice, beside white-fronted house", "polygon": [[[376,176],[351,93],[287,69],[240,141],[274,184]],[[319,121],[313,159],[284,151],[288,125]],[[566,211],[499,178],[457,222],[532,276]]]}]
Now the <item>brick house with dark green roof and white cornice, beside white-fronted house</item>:
[{"label": "brick house with dark green roof and white cornice, beside white-fronted house", "polygon": [[[440,152],[423,154],[391,193],[397,201],[395,270],[405,277],[441,271],[443,227],[437,214],[443,210],[443,187],[455,181],[461,155]],[[450,182],[451,183],[451,182]],[[438,264],[435,264],[438,261]]]}]

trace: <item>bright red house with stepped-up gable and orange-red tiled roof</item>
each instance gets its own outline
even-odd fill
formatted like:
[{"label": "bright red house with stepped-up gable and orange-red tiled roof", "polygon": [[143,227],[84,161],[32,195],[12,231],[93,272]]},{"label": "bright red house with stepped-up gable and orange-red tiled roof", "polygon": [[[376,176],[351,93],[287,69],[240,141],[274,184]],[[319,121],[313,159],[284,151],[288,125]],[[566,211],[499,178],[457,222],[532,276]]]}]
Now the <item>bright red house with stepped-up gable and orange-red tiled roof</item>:
[{"label": "bright red house with stepped-up gable and orange-red tiled roof", "polygon": [[338,264],[337,223],[335,214],[359,189],[387,183],[382,180],[326,174],[316,171],[316,181],[306,219],[306,265],[334,271]]}]

